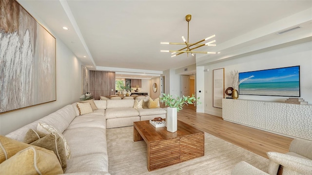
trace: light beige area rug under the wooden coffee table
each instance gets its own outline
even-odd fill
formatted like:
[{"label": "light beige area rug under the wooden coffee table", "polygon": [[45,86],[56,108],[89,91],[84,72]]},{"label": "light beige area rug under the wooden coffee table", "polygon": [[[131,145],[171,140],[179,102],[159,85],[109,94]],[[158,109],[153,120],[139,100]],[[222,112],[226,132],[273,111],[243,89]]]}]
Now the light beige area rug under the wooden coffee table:
[{"label": "light beige area rug under the wooden coffee table", "polygon": [[149,172],[146,143],[133,141],[132,126],[107,129],[106,137],[111,175],[230,175],[242,160],[264,172],[269,163],[267,158],[205,133],[205,156]]}]

